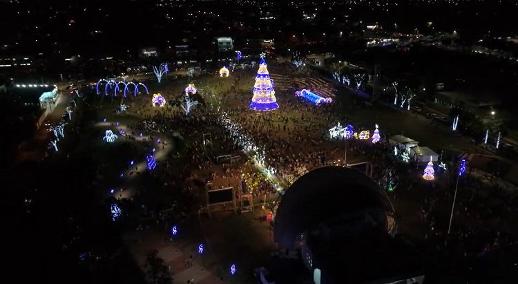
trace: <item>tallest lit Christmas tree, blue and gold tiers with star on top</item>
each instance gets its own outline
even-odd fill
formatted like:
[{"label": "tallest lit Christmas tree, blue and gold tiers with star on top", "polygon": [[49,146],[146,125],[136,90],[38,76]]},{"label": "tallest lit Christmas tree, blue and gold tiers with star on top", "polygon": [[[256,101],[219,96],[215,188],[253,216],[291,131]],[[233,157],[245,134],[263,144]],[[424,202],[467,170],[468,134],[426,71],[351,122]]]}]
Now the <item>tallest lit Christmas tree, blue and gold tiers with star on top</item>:
[{"label": "tallest lit Christmas tree, blue and gold tiers with star on top", "polygon": [[257,71],[256,84],[253,86],[253,97],[250,108],[256,111],[272,111],[278,107],[274,86],[271,84],[270,75],[265,62],[265,55],[262,53],[259,70]]}]

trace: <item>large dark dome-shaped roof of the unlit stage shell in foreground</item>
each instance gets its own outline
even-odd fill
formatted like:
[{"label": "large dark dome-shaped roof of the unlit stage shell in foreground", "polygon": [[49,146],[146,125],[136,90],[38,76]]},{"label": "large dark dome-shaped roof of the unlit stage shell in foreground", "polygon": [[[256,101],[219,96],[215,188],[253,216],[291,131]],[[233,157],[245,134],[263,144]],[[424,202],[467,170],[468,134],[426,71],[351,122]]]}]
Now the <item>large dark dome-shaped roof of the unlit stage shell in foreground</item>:
[{"label": "large dark dome-shaped roof of the unlit stage shell in foreground", "polygon": [[276,211],[274,240],[292,248],[300,236],[320,224],[353,219],[368,220],[394,234],[393,216],[388,196],[374,180],[355,169],[322,167],[298,178],[285,191]]}]

